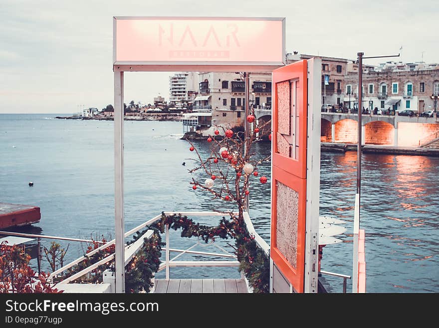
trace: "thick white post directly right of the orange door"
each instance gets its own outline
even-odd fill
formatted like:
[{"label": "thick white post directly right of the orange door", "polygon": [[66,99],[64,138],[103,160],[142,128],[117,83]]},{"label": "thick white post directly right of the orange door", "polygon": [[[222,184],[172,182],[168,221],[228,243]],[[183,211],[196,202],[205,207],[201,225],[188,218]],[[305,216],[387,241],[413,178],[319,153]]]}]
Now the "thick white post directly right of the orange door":
[{"label": "thick white post directly right of the orange door", "polygon": [[[305,223],[305,293],[317,293],[320,197],[320,125],[322,60],[308,60],[307,153],[306,153],[306,223]],[[306,83],[304,81],[303,83]]]}]

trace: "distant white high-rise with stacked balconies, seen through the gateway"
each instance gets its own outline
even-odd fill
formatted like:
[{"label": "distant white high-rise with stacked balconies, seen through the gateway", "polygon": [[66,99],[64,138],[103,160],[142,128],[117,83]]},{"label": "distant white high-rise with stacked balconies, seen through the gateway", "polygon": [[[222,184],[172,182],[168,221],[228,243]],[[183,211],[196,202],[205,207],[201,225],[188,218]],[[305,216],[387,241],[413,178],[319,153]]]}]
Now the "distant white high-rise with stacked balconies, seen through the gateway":
[{"label": "distant white high-rise with stacked balconies, seen through the gateway", "polygon": [[197,72],[179,72],[169,77],[169,103],[177,108],[192,104],[193,94],[198,89]]}]

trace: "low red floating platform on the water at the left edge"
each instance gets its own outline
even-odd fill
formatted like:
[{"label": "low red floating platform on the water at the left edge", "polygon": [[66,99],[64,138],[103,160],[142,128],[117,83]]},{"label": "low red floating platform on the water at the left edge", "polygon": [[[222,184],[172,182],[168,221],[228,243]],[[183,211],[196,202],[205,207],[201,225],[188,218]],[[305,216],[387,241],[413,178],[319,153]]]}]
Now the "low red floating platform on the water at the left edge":
[{"label": "low red floating platform on the water at the left edge", "polygon": [[28,226],[40,219],[37,206],[0,203],[0,229]]}]

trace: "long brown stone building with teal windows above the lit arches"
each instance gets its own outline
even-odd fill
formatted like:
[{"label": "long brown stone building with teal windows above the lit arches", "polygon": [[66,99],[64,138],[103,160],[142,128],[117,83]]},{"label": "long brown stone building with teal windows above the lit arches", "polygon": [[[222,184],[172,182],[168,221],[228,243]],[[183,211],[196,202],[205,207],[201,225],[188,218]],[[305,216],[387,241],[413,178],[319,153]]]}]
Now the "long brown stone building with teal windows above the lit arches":
[{"label": "long brown stone building with teal windows above the lit arches", "polygon": [[[344,103],[358,102],[358,65],[344,78]],[[349,97],[350,94],[350,97]],[[416,113],[438,110],[439,64],[388,61],[364,67],[362,108]],[[432,97],[433,96],[433,97]]]}]

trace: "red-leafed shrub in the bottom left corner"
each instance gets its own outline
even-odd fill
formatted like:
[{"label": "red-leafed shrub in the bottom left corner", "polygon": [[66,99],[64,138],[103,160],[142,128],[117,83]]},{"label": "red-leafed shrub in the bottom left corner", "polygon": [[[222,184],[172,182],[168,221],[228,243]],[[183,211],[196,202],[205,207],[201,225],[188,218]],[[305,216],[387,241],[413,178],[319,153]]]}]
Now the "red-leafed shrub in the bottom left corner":
[{"label": "red-leafed shrub in the bottom left corner", "polygon": [[36,275],[30,256],[21,247],[0,244],[0,293],[62,293],[47,282],[48,274]]}]

